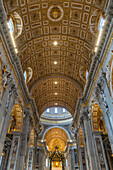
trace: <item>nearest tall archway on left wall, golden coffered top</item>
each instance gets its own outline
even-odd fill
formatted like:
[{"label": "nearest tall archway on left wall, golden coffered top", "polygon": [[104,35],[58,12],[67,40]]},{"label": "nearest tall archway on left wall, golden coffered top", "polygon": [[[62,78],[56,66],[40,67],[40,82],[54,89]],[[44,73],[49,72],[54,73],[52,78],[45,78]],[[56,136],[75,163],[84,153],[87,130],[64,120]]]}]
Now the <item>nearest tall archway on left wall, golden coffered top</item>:
[{"label": "nearest tall archway on left wall, golden coffered top", "polygon": [[4,141],[4,148],[1,157],[1,169],[15,168],[15,162],[20,146],[20,136],[23,126],[22,107],[15,104],[11,111],[11,117],[8,124],[8,129]]}]

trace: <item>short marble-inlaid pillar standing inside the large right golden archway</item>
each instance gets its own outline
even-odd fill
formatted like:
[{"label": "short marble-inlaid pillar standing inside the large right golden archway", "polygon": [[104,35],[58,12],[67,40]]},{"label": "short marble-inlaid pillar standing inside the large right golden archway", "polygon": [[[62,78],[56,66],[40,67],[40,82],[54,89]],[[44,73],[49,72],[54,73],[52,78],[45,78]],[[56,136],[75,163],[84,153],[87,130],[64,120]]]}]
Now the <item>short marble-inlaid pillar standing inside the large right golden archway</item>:
[{"label": "short marble-inlaid pillar standing inside the large right golden archway", "polygon": [[98,155],[99,169],[100,170],[101,169],[109,170],[101,134],[102,134],[102,132],[100,132],[100,131],[93,132],[93,137],[94,137],[94,141],[95,141],[95,151],[97,152],[97,155]]}]

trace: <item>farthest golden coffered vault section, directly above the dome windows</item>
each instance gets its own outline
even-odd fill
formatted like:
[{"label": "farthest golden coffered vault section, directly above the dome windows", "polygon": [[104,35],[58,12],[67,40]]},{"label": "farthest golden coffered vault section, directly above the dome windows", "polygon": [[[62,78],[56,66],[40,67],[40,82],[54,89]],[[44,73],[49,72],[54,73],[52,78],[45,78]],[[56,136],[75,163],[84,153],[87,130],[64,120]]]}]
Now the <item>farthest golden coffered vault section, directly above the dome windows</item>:
[{"label": "farthest golden coffered vault section, directly above the dome windows", "polygon": [[74,113],[76,100],[80,95],[79,87],[64,78],[42,80],[32,91],[39,114],[43,113],[48,106],[65,107],[70,113]]}]

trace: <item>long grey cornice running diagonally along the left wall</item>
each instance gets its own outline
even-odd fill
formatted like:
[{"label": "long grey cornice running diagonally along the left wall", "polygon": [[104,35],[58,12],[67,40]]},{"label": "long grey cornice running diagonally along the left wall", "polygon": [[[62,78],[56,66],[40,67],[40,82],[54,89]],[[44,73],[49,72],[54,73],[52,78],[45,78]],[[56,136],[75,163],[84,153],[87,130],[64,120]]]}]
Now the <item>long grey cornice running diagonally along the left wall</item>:
[{"label": "long grey cornice running diagonally along the left wall", "polygon": [[21,63],[20,63],[19,57],[15,53],[15,50],[14,50],[14,47],[13,47],[13,44],[10,38],[9,29],[7,26],[6,13],[3,7],[2,0],[0,0],[0,34],[1,34],[1,39],[4,42],[6,53],[9,57],[10,64],[13,67],[12,69],[13,73],[15,75],[16,80],[18,81],[17,83],[20,88],[21,96],[25,104],[28,107],[31,107],[33,111],[35,125],[37,126],[37,123],[39,122],[39,116],[37,114],[35,102],[33,99],[30,98],[27,86],[25,84]]}]

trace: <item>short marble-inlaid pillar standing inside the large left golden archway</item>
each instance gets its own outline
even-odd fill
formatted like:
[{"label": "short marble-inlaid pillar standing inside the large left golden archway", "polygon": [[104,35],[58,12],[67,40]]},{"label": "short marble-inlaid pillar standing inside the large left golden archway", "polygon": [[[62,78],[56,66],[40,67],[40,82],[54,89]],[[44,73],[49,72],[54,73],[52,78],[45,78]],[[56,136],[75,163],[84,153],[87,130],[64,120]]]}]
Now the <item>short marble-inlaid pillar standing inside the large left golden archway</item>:
[{"label": "short marble-inlaid pillar standing inside the large left golden archway", "polygon": [[10,170],[15,170],[17,167],[18,152],[19,152],[19,147],[20,147],[20,138],[21,138],[21,132],[14,131],[13,142],[11,146],[11,152],[10,152],[9,163],[8,163],[8,169]]}]

